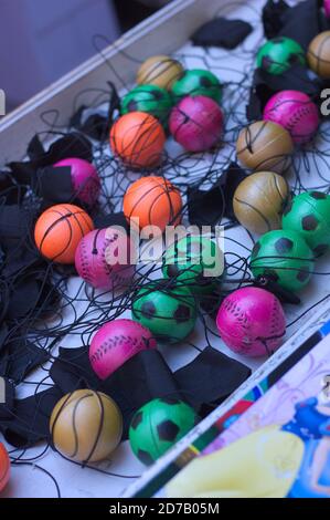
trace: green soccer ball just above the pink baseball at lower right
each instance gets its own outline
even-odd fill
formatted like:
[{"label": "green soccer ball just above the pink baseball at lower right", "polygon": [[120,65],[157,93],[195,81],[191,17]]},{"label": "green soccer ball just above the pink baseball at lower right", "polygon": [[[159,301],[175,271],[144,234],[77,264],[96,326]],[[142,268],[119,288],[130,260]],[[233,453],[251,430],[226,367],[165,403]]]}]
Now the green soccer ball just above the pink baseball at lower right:
[{"label": "green soccer ball just above the pink baseball at lower right", "polygon": [[251,270],[255,278],[269,277],[288,291],[299,291],[309,282],[313,253],[304,238],[291,230],[269,231],[256,242]]}]

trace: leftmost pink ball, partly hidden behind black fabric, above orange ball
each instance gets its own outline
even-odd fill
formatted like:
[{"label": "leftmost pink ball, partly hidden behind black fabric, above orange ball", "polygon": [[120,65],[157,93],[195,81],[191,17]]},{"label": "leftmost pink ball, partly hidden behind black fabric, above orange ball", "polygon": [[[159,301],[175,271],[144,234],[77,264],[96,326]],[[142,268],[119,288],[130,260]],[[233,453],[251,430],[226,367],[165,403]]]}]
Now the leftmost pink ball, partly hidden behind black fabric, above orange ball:
[{"label": "leftmost pink ball, partly hidden behind black fabric, above orange ball", "polygon": [[96,202],[100,193],[100,181],[95,166],[74,157],[60,160],[54,166],[71,167],[71,179],[76,197],[88,206]]}]

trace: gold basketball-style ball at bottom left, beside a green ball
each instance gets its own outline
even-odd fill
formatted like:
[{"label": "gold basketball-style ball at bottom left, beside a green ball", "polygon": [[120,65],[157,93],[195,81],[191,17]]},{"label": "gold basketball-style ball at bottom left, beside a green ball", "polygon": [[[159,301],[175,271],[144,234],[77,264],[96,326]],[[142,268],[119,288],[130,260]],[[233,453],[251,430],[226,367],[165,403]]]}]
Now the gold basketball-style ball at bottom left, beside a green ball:
[{"label": "gold basketball-style ball at bottom left, beside a green ball", "polygon": [[108,395],[78,389],[55,405],[50,431],[55,449],[64,457],[81,464],[98,462],[119,445],[123,417]]}]

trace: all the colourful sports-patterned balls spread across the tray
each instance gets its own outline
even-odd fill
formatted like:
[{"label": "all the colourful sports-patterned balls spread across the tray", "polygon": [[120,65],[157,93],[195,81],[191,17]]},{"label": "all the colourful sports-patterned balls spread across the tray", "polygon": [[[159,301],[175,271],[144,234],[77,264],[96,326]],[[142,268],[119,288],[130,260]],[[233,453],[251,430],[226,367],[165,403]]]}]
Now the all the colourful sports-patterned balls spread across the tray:
[{"label": "all the colourful sports-patterned balls spread across the tray", "polygon": [[[330,32],[317,37],[305,55],[287,38],[268,41],[258,52],[257,65],[281,74],[294,64],[307,65],[320,77],[330,77]],[[110,131],[115,156],[131,169],[160,165],[167,133],[189,152],[203,152],[220,142],[223,113],[222,85],[209,71],[184,71],[168,56],[147,60],[137,75],[138,86],[121,100],[121,115]],[[237,139],[237,158],[253,173],[237,187],[233,205],[237,220],[260,235],[251,269],[288,291],[309,282],[313,262],[330,246],[330,196],[317,191],[291,199],[283,174],[295,145],[310,142],[319,126],[317,105],[306,94],[283,91],[269,100],[264,119],[245,127]],[[100,193],[95,167],[70,158],[54,166],[71,167],[76,199],[92,207]],[[58,170],[60,171],[60,170]],[[124,214],[140,230],[181,221],[180,190],[161,176],[132,183],[124,197]],[[129,284],[135,268],[130,238],[115,228],[94,229],[86,209],[71,204],[49,208],[36,221],[34,239],[41,254],[63,264],[75,264],[94,289],[116,290]],[[125,251],[119,259],[118,251]],[[131,318],[104,324],[89,345],[91,365],[106,379],[134,355],[156,349],[157,342],[174,344],[193,331],[199,301],[219,290],[222,275],[207,270],[223,262],[217,245],[207,237],[185,237],[170,246],[162,260],[161,280],[145,284],[132,299]],[[224,343],[247,356],[275,352],[286,332],[279,300],[270,292],[246,287],[226,297],[216,324]],[[155,399],[134,416],[129,439],[132,451],[152,464],[198,422],[185,403]],[[123,417],[107,395],[79,389],[54,407],[50,433],[54,449],[83,465],[109,457],[123,437]],[[0,490],[9,475],[9,459],[0,445]]]}]

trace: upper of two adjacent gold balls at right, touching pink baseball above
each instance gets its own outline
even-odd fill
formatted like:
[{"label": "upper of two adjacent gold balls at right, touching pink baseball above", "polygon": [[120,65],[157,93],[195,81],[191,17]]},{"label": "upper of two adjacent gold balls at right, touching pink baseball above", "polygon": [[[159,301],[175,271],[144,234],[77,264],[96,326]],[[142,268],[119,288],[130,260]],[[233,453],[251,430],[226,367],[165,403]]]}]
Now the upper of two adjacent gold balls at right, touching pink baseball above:
[{"label": "upper of two adjacent gold balls at right, touching pink baseball above", "polygon": [[288,131],[269,121],[257,121],[243,128],[236,144],[237,158],[244,167],[278,174],[289,167],[294,149]]}]

